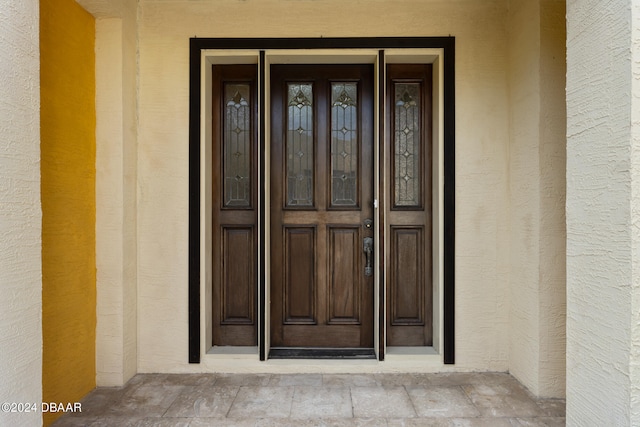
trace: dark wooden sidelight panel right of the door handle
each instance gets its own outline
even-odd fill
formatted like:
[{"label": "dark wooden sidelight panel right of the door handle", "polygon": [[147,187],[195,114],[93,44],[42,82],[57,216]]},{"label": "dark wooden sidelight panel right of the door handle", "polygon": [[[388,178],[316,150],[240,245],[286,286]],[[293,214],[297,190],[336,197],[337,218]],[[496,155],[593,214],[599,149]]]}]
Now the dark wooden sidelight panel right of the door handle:
[{"label": "dark wooden sidelight panel right of the door handle", "polygon": [[431,64],[387,66],[387,345],[433,343]]}]

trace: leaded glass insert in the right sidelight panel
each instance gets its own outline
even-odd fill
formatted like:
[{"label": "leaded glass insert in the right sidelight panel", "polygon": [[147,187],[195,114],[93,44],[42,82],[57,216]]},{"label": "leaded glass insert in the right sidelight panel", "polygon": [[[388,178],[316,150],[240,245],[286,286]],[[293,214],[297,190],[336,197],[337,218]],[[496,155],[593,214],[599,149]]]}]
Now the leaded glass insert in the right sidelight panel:
[{"label": "leaded glass insert in the right sidelight panel", "polygon": [[418,207],[420,194],[420,84],[395,83],[394,205]]}]

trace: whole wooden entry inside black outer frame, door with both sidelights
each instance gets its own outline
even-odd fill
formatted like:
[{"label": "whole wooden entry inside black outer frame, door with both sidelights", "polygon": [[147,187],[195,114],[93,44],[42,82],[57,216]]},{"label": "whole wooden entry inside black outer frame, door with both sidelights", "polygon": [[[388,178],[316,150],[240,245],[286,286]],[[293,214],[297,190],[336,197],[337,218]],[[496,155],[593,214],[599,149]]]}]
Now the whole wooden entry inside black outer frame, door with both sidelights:
[{"label": "whole wooden entry inside black outer frame, door with both sidelights", "polygon": [[[337,51],[209,62],[203,83],[218,88],[202,105],[219,107],[207,107],[203,166],[217,171],[203,183],[217,202],[203,222],[213,283],[202,351],[384,360],[387,347],[412,347],[449,363],[441,53]],[[253,75],[215,77],[233,65]],[[225,125],[227,107],[246,108],[231,119],[246,129]],[[228,145],[240,134],[248,145]]]}]

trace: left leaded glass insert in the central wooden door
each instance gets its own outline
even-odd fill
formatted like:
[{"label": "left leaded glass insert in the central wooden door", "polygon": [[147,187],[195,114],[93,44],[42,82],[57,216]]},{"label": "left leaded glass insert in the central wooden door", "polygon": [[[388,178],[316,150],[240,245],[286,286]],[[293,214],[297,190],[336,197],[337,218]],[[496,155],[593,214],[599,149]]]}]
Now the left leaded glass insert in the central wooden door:
[{"label": "left leaded glass insert in the central wooden door", "polygon": [[313,206],[313,84],[287,84],[287,206]]}]

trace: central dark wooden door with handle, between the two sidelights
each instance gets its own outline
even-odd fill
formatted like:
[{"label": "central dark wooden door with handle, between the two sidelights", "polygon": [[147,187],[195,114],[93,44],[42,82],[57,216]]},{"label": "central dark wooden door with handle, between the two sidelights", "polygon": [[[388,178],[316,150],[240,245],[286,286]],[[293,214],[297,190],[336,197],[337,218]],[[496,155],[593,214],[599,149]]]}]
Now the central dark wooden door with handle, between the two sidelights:
[{"label": "central dark wooden door with handle, between the two sidelights", "polygon": [[373,347],[372,76],[271,67],[272,348]]}]

